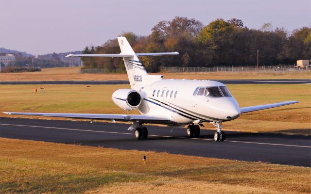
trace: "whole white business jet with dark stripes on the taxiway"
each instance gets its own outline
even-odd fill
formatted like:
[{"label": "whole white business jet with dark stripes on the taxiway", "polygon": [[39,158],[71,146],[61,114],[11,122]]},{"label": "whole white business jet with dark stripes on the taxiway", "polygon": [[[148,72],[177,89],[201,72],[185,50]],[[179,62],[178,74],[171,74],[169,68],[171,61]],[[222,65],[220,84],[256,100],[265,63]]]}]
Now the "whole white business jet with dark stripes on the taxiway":
[{"label": "whole white business jet with dark stripes on the taxiway", "polygon": [[143,124],[165,124],[182,128],[188,125],[187,135],[198,137],[202,123],[216,127],[215,141],[224,141],[222,122],[231,121],[241,113],[259,111],[298,101],[240,108],[225,84],[210,80],[165,80],[161,75],[148,75],[139,56],[177,55],[178,52],[135,53],[125,37],[118,37],[120,54],[69,54],[66,57],[122,57],[131,89],[119,89],[112,95],[121,109],[138,109],[141,114],[83,114],[83,113],[13,113],[17,115],[69,117],[79,119],[132,122],[128,130],[135,129],[136,139],[146,139],[148,130]]}]

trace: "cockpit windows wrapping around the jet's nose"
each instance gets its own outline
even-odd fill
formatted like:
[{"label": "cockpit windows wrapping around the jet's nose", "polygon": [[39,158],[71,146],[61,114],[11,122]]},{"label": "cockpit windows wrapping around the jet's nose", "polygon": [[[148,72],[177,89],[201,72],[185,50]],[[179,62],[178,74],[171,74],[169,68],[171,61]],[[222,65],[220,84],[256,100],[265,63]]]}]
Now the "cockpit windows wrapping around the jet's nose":
[{"label": "cockpit windows wrapping around the jet's nose", "polygon": [[193,96],[203,95],[206,97],[232,97],[226,86],[197,87],[193,92]]}]

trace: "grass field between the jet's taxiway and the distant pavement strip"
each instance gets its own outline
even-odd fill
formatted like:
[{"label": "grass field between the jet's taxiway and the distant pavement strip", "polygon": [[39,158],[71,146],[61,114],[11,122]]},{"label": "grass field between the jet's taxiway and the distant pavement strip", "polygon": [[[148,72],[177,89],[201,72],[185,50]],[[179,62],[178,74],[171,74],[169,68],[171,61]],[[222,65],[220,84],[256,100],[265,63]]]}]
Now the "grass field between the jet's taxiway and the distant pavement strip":
[{"label": "grass field between the jet's taxiway and the distant pavement strip", "polygon": [[[112,102],[111,95],[119,88],[129,88],[129,85],[92,85],[89,89],[85,85],[46,85],[44,93],[40,89],[34,93],[34,88],[40,86],[1,85],[0,111],[126,113]],[[287,100],[298,100],[299,103],[242,114],[234,121],[225,122],[224,130],[311,135],[311,85],[262,84],[228,87],[241,107]],[[128,113],[136,114],[138,111]],[[3,113],[0,115],[12,116]],[[206,124],[206,128],[213,129],[211,124]]]}]

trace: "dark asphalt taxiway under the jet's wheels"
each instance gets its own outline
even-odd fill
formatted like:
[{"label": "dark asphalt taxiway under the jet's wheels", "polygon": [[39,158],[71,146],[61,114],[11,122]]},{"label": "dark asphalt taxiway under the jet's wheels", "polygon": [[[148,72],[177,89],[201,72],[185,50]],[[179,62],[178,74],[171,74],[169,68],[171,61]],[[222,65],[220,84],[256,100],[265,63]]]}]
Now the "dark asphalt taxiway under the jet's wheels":
[{"label": "dark asphalt taxiway under the jet's wheels", "polygon": [[137,141],[129,125],[0,117],[0,137],[104,146],[119,149],[277,164],[311,166],[311,137],[226,131],[225,142],[213,140],[214,130],[188,138],[186,129],[148,127],[148,139]]}]

